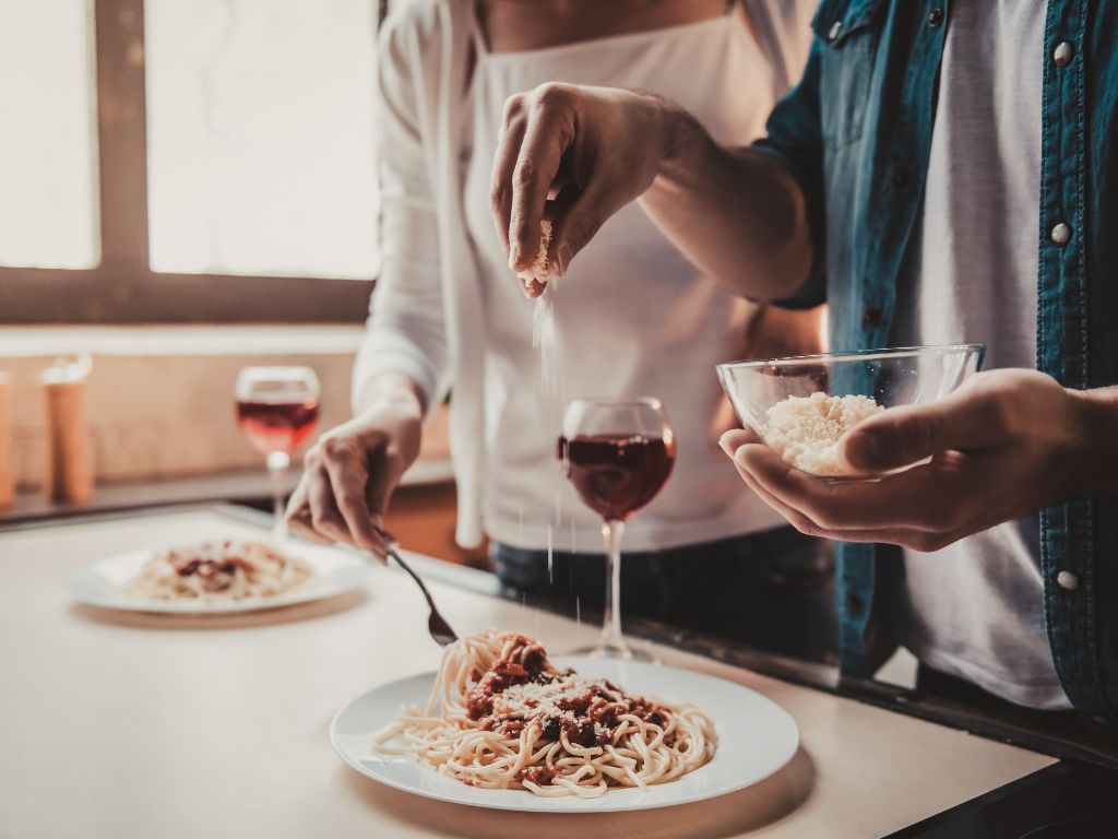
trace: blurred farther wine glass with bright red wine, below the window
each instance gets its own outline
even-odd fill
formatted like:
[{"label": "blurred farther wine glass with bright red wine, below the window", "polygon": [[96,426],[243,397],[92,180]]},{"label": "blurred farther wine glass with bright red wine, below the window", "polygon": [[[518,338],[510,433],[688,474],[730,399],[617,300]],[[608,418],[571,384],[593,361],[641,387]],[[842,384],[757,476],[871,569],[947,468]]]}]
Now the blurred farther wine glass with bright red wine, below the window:
[{"label": "blurred farther wine glass with bright red wine, below the window", "polygon": [[257,451],[267,455],[275,520],[272,536],[287,536],[284,479],[291,455],[319,420],[319,377],[310,367],[245,367],[237,376],[237,422]]}]

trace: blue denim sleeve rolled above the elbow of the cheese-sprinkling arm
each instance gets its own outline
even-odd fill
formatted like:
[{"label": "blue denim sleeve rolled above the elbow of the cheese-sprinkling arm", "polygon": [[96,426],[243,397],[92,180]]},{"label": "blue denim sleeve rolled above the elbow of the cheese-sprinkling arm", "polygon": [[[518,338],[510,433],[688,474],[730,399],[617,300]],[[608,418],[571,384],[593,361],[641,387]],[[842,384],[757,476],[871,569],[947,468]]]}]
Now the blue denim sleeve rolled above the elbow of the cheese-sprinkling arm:
[{"label": "blue denim sleeve rolled above the elbow of the cheese-sprinkling arm", "polygon": [[790,298],[774,301],[786,309],[809,309],[826,301],[826,210],[823,194],[823,132],[819,116],[819,43],[812,44],[799,84],[777,102],[766,136],[752,148],[779,160],[799,185],[812,234],[812,272]]}]

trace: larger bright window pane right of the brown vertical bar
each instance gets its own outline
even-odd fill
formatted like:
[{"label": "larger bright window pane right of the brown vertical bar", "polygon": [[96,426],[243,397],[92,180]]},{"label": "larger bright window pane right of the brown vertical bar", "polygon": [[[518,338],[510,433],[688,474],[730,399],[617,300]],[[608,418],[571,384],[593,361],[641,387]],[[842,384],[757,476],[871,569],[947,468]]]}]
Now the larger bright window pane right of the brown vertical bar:
[{"label": "larger bright window pane right of the brown vertical bar", "polygon": [[376,271],[373,0],[146,0],[155,271]]}]

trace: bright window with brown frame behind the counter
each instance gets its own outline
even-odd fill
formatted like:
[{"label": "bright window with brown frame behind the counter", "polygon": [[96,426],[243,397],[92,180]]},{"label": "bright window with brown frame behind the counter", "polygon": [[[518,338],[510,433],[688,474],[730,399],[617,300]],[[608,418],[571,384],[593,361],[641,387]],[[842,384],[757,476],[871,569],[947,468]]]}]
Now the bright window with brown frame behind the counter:
[{"label": "bright window with brown frame behind the counter", "polygon": [[0,0],[0,322],[362,320],[378,12]]}]

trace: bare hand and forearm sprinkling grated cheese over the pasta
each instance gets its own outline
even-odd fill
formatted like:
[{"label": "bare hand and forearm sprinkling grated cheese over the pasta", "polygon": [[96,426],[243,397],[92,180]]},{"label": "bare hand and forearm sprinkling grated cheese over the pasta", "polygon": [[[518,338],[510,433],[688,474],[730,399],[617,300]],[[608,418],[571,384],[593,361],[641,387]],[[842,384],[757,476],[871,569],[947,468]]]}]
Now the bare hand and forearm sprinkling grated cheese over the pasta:
[{"label": "bare hand and forearm sprinkling grated cheese over the pasta", "polygon": [[[509,267],[531,275],[544,205],[549,273],[562,275],[634,199],[695,267],[735,294],[781,300],[807,281],[804,195],[769,154],[723,149],[669,100],[550,83],[505,103],[490,208]],[[529,296],[542,282],[524,283]]]}]

